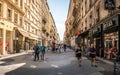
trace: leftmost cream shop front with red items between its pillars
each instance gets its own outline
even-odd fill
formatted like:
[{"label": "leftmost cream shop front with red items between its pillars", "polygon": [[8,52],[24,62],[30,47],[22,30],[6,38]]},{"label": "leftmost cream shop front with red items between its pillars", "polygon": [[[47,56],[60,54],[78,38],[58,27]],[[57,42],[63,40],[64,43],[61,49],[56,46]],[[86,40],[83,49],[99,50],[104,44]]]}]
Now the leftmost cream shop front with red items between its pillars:
[{"label": "leftmost cream shop front with red items between its pillars", "polygon": [[0,54],[13,53],[13,27],[14,24],[4,19],[0,20]]}]

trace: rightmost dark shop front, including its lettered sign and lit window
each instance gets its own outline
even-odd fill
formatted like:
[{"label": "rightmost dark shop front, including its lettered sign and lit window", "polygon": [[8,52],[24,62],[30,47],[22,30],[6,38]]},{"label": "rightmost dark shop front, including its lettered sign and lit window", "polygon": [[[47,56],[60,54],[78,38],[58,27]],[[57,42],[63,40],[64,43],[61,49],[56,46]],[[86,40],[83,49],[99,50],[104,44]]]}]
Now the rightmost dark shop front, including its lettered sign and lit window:
[{"label": "rightmost dark shop front, including its lettered sign and lit window", "polygon": [[110,17],[105,20],[103,25],[104,32],[104,57],[106,59],[116,59],[116,56],[120,55],[120,42],[119,42],[119,19],[120,15]]}]

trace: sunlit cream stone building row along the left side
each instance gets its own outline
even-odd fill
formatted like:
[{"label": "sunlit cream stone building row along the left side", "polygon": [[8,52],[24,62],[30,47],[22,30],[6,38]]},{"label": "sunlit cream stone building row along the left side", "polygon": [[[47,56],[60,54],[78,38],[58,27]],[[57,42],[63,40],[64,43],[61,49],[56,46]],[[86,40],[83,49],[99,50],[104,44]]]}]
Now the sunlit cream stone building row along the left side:
[{"label": "sunlit cream stone building row along the left side", "polygon": [[0,54],[48,45],[51,17],[46,0],[0,0]]}]

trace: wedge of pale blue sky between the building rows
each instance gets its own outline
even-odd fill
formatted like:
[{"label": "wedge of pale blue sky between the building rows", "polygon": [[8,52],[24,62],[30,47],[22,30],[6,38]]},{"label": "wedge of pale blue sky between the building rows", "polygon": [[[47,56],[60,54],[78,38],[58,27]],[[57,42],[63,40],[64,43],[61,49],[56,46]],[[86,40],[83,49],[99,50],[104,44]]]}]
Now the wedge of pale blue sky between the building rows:
[{"label": "wedge of pale blue sky between the building rows", "polygon": [[67,19],[69,1],[70,0],[47,0],[61,41],[63,41],[65,32],[65,21]]}]

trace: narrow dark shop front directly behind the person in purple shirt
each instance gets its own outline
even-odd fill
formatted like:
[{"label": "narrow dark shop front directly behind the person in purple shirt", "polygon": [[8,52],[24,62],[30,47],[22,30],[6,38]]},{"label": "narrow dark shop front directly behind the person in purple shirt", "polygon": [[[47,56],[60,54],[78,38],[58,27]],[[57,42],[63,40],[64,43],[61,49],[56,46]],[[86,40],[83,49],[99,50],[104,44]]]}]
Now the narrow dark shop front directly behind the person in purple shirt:
[{"label": "narrow dark shop front directly behind the person in purple shirt", "polygon": [[95,26],[92,30],[92,38],[96,48],[97,56],[103,57],[104,54],[104,38],[102,24]]}]

